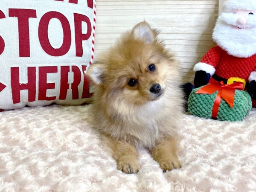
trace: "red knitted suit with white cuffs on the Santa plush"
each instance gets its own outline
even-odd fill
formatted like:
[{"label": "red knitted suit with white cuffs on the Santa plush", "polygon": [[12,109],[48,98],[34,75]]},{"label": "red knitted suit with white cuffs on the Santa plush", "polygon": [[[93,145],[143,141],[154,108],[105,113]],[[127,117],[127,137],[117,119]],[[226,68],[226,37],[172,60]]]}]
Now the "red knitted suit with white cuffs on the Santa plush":
[{"label": "red knitted suit with white cuffs on the Santa plush", "polygon": [[[219,83],[231,77],[239,77],[248,83],[256,73],[256,54],[249,58],[238,58],[227,54],[221,47],[212,47],[194,68],[195,71],[203,69],[211,73],[209,83]],[[256,100],[253,100],[253,107],[256,107]]]}]

